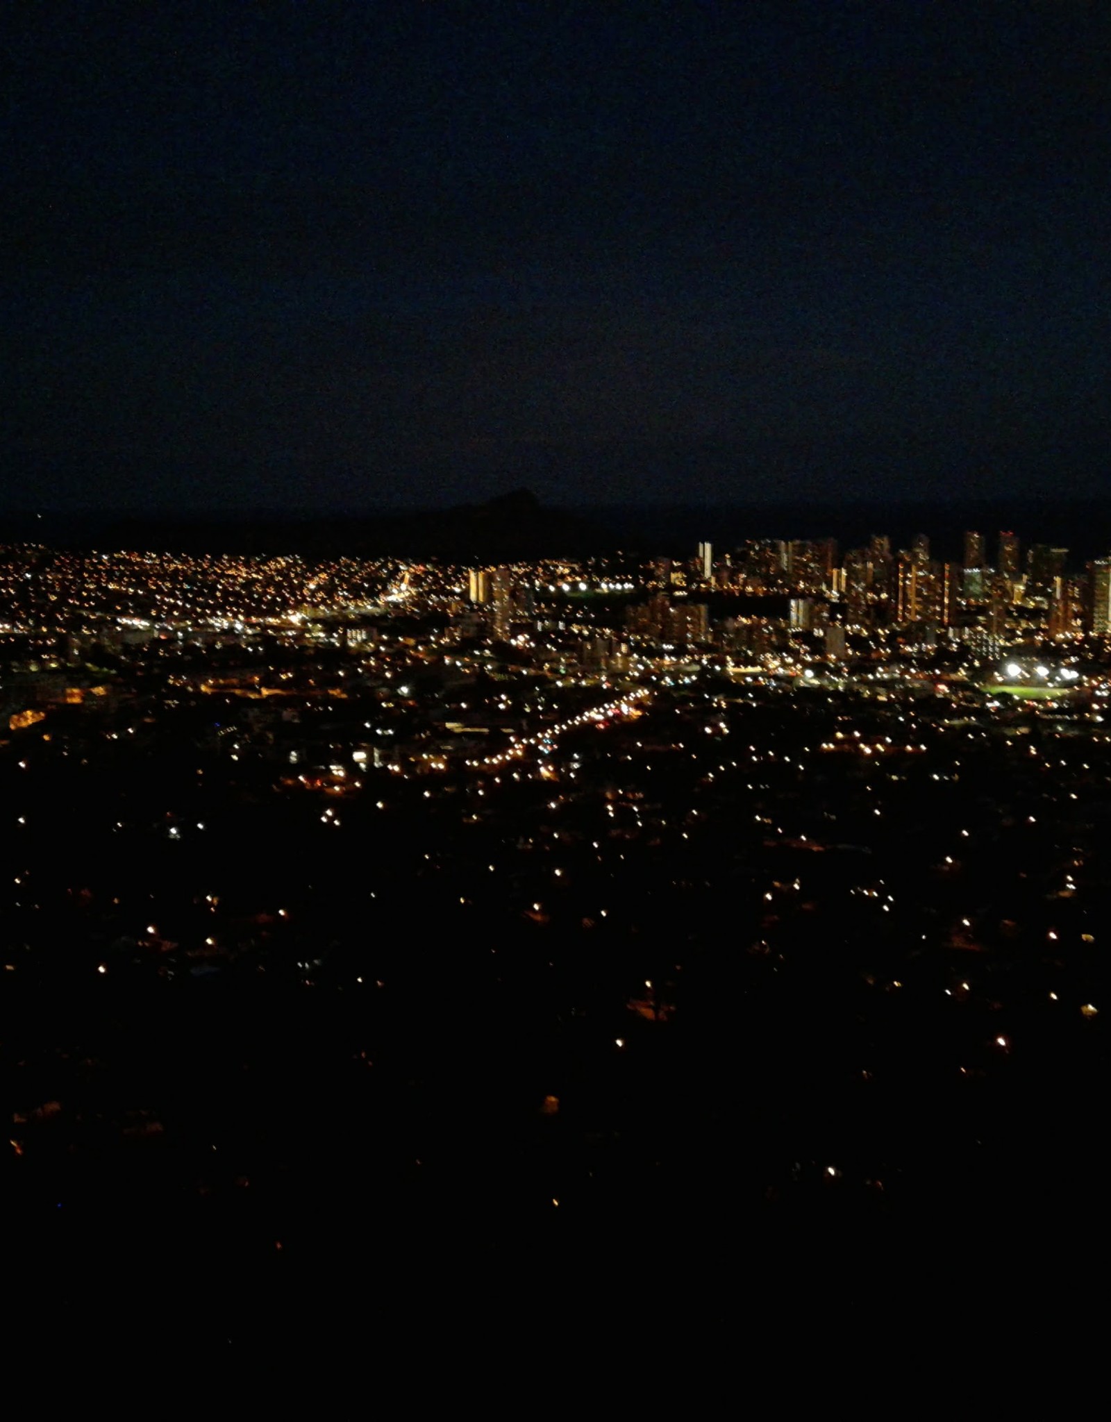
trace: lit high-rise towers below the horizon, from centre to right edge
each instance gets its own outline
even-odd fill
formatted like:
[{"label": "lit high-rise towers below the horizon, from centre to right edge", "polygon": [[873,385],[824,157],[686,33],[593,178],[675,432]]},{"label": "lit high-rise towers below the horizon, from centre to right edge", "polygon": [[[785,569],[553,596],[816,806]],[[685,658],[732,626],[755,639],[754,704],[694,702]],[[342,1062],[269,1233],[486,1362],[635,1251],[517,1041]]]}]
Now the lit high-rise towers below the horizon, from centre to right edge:
[{"label": "lit high-rise towers below the horizon, from centre to right edge", "polygon": [[[637,580],[623,584],[632,596],[612,626],[599,626],[596,614],[586,620],[622,638],[751,653],[802,636],[835,658],[876,650],[888,633],[986,654],[1031,638],[1111,633],[1111,556],[1070,569],[1068,549],[1023,547],[1007,529],[994,546],[969,530],[962,552],[960,562],[936,557],[925,533],[905,547],[873,535],[844,552],[832,538],[747,539],[720,555],[704,540],[687,560],[644,562]],[[593,560],[580,590],[605,586],[606,562]],[[532,619],[538,576],[523,565],[472,569],[475,634],[508,640],[514,623]],[[596,638],[583,656],[599,660]]]}]

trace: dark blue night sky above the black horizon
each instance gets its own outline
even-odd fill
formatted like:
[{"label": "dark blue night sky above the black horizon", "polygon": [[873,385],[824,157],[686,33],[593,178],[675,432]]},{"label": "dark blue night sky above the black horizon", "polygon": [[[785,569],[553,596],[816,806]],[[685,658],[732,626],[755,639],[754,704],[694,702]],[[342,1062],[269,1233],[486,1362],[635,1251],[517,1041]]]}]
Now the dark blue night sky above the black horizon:
[{"label": "dark blue night sky above the black horizon", "polygon": [[1111,6],[9,4],[0,503],[1094,496]]}]

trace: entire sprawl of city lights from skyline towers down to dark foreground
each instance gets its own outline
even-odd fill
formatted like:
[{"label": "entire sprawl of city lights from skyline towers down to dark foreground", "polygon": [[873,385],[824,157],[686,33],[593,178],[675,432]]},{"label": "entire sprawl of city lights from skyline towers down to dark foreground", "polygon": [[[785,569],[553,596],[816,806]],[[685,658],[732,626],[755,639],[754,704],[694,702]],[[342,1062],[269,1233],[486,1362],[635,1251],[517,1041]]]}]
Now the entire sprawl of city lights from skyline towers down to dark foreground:
[{"label": "entire sprawl of city lights from skyline towers down to dark foreground", "polygon": [[55,1295],[155,1261],[132,1347],[303,1347],[302,1270],[427,1294],[461,1220],[576,1331],[569,1250],[693,1219],[747,1277],[1091,1250],[1111,553],[701,533],[0,545],[0,1172]]}]

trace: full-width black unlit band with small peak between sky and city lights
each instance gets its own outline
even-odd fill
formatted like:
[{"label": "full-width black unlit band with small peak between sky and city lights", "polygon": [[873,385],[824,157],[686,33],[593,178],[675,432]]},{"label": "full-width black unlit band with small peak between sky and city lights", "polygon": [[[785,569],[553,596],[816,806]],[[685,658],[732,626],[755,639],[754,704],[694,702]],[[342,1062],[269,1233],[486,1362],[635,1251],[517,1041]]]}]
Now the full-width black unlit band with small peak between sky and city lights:
[{"label": "full-width black unlit band with small peak between sky and city lights", "polygon": [[191,553],[400,555],[461,563],[575,557],[615,549],[689,557],[701,539],[710,539],[724,553],[748,538],[832,536],[842,547],[855,547],[872,533],[889,533],[899,547],[909,546],[918,532],[930,535],[936,556],[956,559],[964,529],[979,529],[994,547],[992,540],[1003,528],[1014,529],[1024,547],[1031,542],[1068,547],[1071,563],[1081,566],[1088,557],[1105,556],[1111,546],[1111,502],[1063,493],[1060,501],[629,502],[575,512],[545,506],[531,491],[515,489],[481,503],[420,512],[0,512],[0,542],[10,543]]}]

